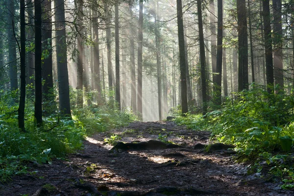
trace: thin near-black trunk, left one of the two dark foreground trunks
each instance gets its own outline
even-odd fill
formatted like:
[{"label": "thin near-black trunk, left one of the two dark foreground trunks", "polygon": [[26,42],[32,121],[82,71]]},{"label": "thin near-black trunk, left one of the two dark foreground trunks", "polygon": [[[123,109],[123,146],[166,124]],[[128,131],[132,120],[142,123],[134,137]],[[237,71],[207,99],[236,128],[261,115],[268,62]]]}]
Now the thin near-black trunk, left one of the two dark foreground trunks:
[{"label": "thin near-black trunk, left one of the two dark foreground trunks", "polygon": [[[18,108],[18,126],[25,132],[25,0],[20,0],[21,18],[21,96]],[[1,55],[2,58],[2,55]],[[0,59],[2,62],[2,59]],[[2,67],[2,66],[1,66]]]}]

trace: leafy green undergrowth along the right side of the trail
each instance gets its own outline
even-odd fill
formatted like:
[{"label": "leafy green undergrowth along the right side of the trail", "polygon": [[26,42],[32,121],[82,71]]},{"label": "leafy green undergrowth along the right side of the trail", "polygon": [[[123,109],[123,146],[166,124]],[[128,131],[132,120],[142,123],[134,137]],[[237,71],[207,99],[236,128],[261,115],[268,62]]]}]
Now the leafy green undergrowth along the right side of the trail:
[{"label": "leafy green undergrowth along the right side of the trail", "polygon": [[210,130],[212,139],[233,144],[237,160],[250,164],[249,171],[267,170],[270,178],[284,182],[282,188],[294,188],[294,96],[273,94],[263,88],[228,99],[220,110],[205,116],[188,114],[175,122],[193,130]]}]

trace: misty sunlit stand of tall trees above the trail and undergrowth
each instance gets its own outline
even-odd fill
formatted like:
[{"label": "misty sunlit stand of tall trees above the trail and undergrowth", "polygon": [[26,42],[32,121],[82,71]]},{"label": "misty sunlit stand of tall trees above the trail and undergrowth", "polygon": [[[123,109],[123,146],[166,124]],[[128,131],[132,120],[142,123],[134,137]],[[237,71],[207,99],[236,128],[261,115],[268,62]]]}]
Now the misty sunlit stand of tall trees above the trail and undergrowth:
[{"label": "misty sunlit stand of tall trees above the trail and undergrowth", "polygon": [[85,101],[88,106],[119,105],[140,120],[161,120],[177,105],[183,114],[220,108],[224,97],[235,99],[232,93],[250,89],[251,82],[268,85],[270,93],[273,87],[275,93],[291,92],[292,2],[176,3],[176,9],[163,0],[144,2],[144,7],[118,0],[75,0],[67,7],[60,0],[0,5],[6,12],[0,84],[20,90],[13,92],[20,96],[21,130],[25,92],[27,101],[35,94],[40,126],[42,116],[55,113],[57,105],[61,115],[71,116],[71,109],[85,107]]}]

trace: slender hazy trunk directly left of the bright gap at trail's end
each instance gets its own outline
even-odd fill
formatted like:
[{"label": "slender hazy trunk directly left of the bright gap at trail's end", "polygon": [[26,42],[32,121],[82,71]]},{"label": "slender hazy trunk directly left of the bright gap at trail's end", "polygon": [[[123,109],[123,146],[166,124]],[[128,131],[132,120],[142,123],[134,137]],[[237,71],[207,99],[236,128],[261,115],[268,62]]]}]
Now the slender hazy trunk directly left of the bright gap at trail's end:
[{"label": "slender hazy trunk directly left of the bright gap at trail's end", "polygon": [[139,21],[138,21],[138,96],[137,112],[138,119],[143,120],[142,104],[142,62],[143,62],[143,2],[139,2]]}]

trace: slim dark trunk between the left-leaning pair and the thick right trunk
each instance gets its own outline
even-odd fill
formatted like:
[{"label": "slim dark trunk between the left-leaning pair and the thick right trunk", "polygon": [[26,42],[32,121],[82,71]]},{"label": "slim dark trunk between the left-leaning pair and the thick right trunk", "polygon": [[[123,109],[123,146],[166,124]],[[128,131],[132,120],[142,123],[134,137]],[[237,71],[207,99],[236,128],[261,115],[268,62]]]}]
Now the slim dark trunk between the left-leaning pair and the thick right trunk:
[{"label": "slim dark trunk between the left-leaning pair and the thick right trunk", "polygon": [[217,47],[217,76],[216,104],[221,106],[221,69],[222,69],[222,0],[218,0],[218,47]]}]

